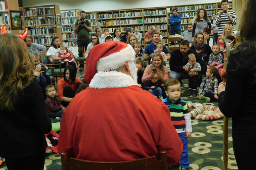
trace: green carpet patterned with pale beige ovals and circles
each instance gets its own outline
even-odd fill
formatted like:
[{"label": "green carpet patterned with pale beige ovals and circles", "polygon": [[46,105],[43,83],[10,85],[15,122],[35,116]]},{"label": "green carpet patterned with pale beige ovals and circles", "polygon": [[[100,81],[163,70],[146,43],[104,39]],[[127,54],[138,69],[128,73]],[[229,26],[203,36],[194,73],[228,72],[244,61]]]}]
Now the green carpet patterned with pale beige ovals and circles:
[{"label": "green carpet patterned with pale beige ovals and circles", "polygon": [[[167,63],[167,66],[169,63]],[[183,81],[181,97],[187,103],[199,102],[203,105],[218,106],[217,102],[206,103],[198,97],[186,96],[188,92],[188,82]],[[56,122],[55,120],[53,122]],[[214,121],[204,121],[191,119],[193,133],[188,139],[188,152],[191,170],[221,170],[223,165],[223,118]],[[229,120],[229,143],[228,143],[228,169],[238,169],[234,158],[231,120]],[[0,166],[0,170],[7,169],[5,163]],[[59,154],[47,154],[45,157],[44,170],[61,170],[61,160]]]}]

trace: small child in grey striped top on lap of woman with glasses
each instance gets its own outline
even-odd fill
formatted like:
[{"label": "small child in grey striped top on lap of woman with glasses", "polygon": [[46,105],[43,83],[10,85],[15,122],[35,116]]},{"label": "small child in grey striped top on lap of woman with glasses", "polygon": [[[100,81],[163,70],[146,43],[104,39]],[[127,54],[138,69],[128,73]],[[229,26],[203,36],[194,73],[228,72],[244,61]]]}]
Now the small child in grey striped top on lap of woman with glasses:
[{"label": "small child in grey striped top on lap of woman with glasses", "polygon": [[216,67],[216,69],[218,70],[219,68],[223,67],[223,56],[220,53],[221,47],[218,44],[214,44],[212,47],[212,52],[209,56],[209,61],[208,61],[208,66],[209,67]]}]

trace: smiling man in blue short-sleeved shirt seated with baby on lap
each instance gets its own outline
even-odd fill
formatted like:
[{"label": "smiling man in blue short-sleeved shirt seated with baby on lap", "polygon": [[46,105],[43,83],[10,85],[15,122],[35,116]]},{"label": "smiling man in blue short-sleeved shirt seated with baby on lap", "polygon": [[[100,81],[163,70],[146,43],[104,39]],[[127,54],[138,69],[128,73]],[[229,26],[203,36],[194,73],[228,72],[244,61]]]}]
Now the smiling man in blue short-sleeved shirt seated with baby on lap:
[{"label": "smiling man in blue short-sleeved shirt seated with baby on lap", "polygon": [[[146,46],[145,48],[145,52],[144,52],[144,61],[148,61],[148,64],[150,64],[150,60],[152,58],[152,56],[154,55],[154,51],[156,50],[156,46],[159,44],[160,42],[160,34],[158,32],[154,32],[152,34],[152,38],[153,38],[153,43],[150,43]],[[161,43],[160,43],[161,44]],[[167,60],[170,60],[170,53],[167,49],[166,46],[163,46],[163,50],[162,50],[166,56],[167,56]]]}]

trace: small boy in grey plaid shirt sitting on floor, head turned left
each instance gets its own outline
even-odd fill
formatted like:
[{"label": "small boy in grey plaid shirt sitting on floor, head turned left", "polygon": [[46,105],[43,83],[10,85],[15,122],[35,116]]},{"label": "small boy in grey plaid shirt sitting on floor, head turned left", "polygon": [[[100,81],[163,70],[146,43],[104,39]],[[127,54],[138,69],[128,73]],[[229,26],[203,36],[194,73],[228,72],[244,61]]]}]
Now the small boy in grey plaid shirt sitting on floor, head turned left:
[{"label": "small boy in grey plaid shirt sitting on floor, head turned left", "polygon": [[[200,97],[199,99],[202,100],[205,96],[205,100],[207,102],[218,100],[218,80],[215,78],[217,74],[216,67],[209,67],[206,71],[206,78],[203,79],[200,85]],[[204,96],[203,96],[204,92]]]}]

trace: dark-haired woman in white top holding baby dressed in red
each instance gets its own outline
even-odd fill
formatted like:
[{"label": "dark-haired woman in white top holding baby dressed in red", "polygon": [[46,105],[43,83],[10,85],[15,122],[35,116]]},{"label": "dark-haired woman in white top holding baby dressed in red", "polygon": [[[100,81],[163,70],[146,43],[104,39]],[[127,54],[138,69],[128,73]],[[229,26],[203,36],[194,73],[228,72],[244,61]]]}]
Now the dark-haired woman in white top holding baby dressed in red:
[{"label": "dark-haired woman in white top holding baby dressed in red", "polygon": [[[49,57],[49,60],[52,62],[55,61],[60,61],[61,59],[65,58],[65,56],[63,57],[59,57],[59,52],[60,52],[60,40],[58,36],[53,37],[52,41],[51,41],[51,47],[48,49],[47,51],[47,56]],[[76,65],[73,62],[70,62],[69,65],[73,66],[75,68],[75,72],[76,72]],[[64,68],[66,66],[66,63],[63,63],[61,65],[61,68]],[[55,65],[56,68],[59,68],[58,65]]]}]

